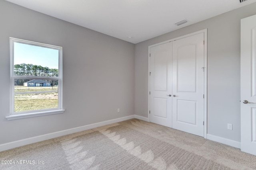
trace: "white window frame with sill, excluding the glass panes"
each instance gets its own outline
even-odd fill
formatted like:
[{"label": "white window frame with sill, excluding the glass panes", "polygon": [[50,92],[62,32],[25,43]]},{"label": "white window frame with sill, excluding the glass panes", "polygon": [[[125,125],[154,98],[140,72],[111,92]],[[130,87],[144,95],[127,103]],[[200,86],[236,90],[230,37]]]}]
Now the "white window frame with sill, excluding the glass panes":
[{"label": "white window frame with sill, excluding the glass panes", "polygon": [[[15,42],[58,50],[59,51],[58,77],[14,75],[14,43]],[[14,79],[58,80],[58,108],[14,112]],[[6,116],[6,119],[8,120],[21,119],[26,117],[36,117],[36,116],[52,115],[52,114],[58,114],[58,113],[64,113],[64,109],[62,109],[62,47],[10,37],[10,115]]]}]

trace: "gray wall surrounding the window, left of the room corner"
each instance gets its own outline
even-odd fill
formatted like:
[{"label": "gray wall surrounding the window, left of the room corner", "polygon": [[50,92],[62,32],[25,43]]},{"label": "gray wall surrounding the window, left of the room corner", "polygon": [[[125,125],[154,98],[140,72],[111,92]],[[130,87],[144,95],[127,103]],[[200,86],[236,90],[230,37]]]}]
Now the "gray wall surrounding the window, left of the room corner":
[{"label": "gray wall surrounding the window, left of the room corner", "polygon": [[[135,45],[0,0],[0,144],[134,115]],[[63,47],[63,114],[8,121],[9,37]],[[117,113],[120,108],[120,113]]]}]

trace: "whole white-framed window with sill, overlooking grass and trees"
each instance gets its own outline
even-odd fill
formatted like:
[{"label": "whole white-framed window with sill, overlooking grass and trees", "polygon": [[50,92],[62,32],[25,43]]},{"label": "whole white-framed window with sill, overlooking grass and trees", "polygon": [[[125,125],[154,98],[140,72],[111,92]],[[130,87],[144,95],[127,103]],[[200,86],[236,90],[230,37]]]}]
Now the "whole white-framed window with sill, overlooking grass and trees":
[{"label": "whole white-framed window with sill, overlooking grass and trees", "polygon": [[8,120],[64,112],[62,47],[10,37],[10,64]]}]

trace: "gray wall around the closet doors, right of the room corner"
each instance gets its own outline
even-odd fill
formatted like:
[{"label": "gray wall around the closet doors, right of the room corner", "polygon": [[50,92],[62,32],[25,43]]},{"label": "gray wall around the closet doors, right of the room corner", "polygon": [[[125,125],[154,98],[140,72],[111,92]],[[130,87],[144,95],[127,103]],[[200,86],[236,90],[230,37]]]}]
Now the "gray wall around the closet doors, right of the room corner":
[{"label": "gray wall around the closet doors, right of the room corner", "polygon": [[135,114],[148,117],[148,46],[207,28],[208,134],[240,142],[240,20],[255,9],[253,3],[136,44]]}]

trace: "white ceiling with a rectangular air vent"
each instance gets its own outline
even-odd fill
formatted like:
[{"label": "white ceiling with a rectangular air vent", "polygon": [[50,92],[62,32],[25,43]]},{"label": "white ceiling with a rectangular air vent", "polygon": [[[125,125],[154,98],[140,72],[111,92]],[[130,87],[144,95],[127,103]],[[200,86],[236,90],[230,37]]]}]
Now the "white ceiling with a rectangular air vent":
[{"label": "white ceiling with a rectangular air vent", "polygon": [[[131,43],[256,2],[247,0],[6,0]],[[174,23],[188,20],[183,25]],[[128,36],[132,38],[129,39]]]}]

